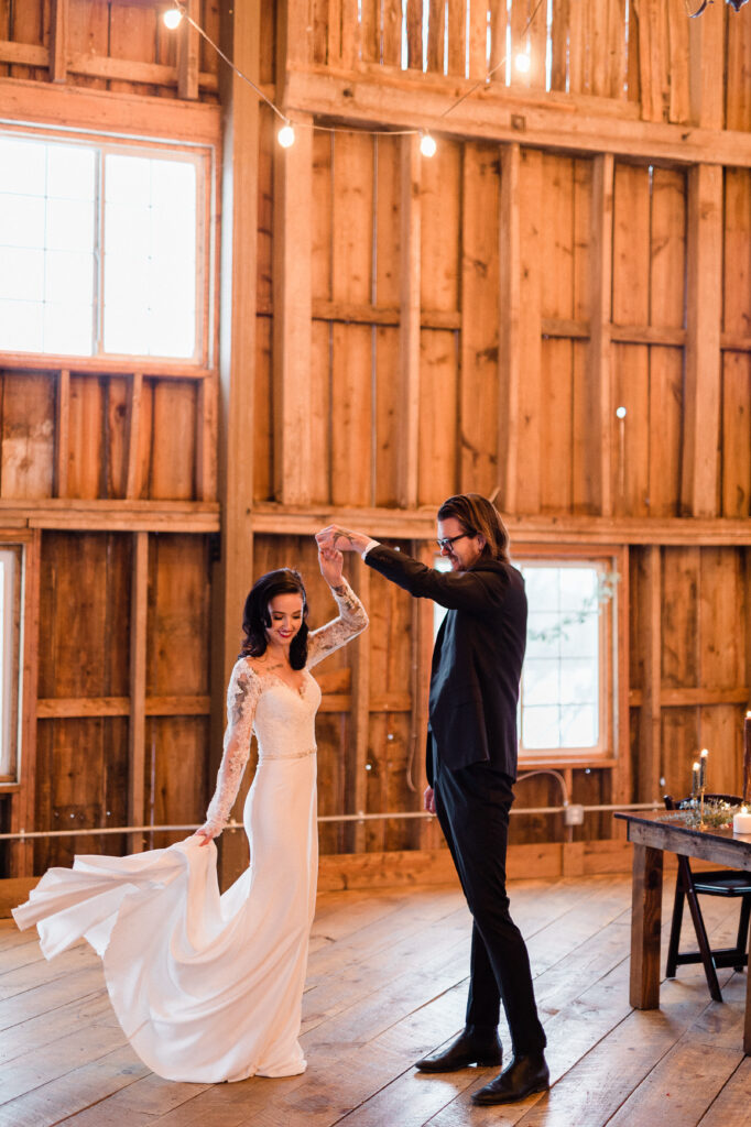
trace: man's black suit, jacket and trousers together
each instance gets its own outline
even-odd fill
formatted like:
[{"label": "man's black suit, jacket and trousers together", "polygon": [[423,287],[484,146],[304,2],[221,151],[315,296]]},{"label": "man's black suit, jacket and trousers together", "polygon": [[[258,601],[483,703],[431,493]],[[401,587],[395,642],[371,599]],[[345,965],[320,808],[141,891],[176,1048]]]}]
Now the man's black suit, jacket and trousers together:
[{"label": "man's black suit, jacket and trousers together", "polygon": [[514,1051],[540,1051],[546,1040],[529,958],[505,887],[527,638],[523,579],[498,560],[436,571],[382,544],[365,562],[448,609],[433,650],[427,781],[474,919],[467,1024],[495,1029],[502,1000]]}]

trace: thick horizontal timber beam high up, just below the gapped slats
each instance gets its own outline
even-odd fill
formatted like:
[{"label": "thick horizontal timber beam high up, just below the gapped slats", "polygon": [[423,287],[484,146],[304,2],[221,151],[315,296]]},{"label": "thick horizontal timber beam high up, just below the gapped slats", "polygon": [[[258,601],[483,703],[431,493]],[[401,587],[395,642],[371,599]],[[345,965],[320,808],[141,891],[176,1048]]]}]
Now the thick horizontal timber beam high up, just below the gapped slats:
[{"label": "thick horizontal timber beam high up, just below the gapped slats", "polygon": [[286,109],[347,124],[425,128],[440,135],[518,141],[564,152],[611,152],[618,157],[674,165],[751,167],[751,134],[643,122],[626,101],[546,95],[544,100],[507,95],[498,83],[469,95],[451,114],[448,107],[469,81],[417,79],[378,68],[373,77],[299,68],[286,76]]}]

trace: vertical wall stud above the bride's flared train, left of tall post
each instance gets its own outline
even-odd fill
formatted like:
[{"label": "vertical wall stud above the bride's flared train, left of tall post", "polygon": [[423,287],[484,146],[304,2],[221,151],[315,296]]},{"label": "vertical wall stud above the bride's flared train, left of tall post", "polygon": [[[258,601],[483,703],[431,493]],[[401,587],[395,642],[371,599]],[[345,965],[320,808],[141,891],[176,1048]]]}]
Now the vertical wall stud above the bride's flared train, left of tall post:
[{"label": "vertical wall stud above the bride's flared train, left of tall post", "polygon": [[[145,766],[147,610],[149,597],[149,533],[133,533],[131,570],[131,703],[127,730],[130,825],[143,825]],[[130,849],[142,849],[143,834],[131,834]]]}]

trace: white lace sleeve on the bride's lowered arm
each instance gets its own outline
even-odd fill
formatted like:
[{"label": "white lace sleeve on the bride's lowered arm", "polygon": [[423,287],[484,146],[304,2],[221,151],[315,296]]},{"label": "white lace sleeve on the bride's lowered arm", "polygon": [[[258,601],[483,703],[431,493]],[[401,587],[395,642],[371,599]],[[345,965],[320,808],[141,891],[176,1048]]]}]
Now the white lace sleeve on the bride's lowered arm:
[{"label": "white lace sleeve on the bride's lowered arm", "polygon": [[227,689],[227,728],[224,752],[217,775],[217,789],[206,813],[206,822],[201,827],[218,836],[235,805],[245,765],[250,754],[250,736],[256,706],[260,696],[262,683],[257,673],[240,660],[232,669]]}]

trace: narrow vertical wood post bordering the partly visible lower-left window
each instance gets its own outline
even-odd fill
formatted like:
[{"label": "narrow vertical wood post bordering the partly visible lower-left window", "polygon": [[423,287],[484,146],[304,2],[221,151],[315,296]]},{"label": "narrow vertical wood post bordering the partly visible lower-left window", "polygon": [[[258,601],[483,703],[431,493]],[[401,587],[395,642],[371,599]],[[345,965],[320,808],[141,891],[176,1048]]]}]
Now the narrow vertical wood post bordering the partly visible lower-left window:
[{"label": "narrow vertical wood post bordering the partly visible lower-left window", "polygon": [[[42,532],[35,529],[26,544],[24,574],[24,651],[21,655],[21,722],[18,747],[20,790],[10,800],[10,833],[34,829],[36,809],[36,701],[39,667],[39,579]],[[10,850],[10,876],[34,872],[34,843],[17,842]]]}]

